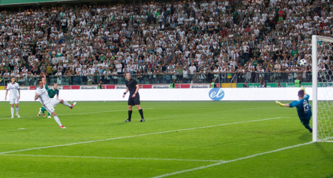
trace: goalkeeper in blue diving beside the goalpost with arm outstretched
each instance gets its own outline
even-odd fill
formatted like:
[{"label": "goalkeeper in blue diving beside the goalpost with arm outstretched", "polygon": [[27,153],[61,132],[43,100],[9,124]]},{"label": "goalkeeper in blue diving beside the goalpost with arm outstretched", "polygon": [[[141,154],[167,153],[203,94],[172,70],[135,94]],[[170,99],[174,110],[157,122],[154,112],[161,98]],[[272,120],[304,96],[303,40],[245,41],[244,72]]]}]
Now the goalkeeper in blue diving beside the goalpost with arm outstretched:
[{"label": "goalkeeper in blue diving beside the goalpost with arm outstretched", "polygon": [[309,95],[305,93],[305,88],[302,87],[301,90],[298,91],[298,101],[294,101],[289,104],[282,104],[279,101],[275,101],[276,104],[284,107],[293,108],[296,107],[298,117],[301,120],[301,123],[304,125],[312,133],[312,128],[309,126],[310,119],[312,116],[311,105],[309,104]]}]

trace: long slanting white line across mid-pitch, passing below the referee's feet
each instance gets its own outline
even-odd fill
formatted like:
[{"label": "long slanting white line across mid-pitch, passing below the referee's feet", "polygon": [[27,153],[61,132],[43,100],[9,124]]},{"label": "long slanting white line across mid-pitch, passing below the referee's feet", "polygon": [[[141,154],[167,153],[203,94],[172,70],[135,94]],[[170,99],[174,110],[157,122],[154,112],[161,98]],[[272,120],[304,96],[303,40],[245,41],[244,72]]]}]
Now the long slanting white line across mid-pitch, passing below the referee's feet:
[{"label": "long slanting white line across mid-pitch, passing below the referee's feet", "polygon": [[154,132],[154,133],[144,133],[144,134],[139,134],[139,135],[120,136],[120,137],[115,137],[115,138],[110,138],[110,139],[102,139],[102,140],[94,140],[94,141],[86,141],[86,142],[77,142],[77,143],[64,144],[64,145],[53,145],[53,146],[47,146],[47,147],[28,148],[28,149],[22,149],[22,150],[0,152],[0,154],[30,151],[30,150],[45,149],[45,148],[63,147],[63,146],[86,144],[86,143],[93,143],[93,142],[103,142],[103,141],[110,141],[110,140],[117,140],[117,139],[127,139],[127,138],[132,138],[132,137],[137,137],[137,136],[145,136],[145,135],[153,135],[153,134],[169,133],[169,132],[177,132],[177,131],[193,130],[193,129],[203,129],[203,128],[225,126],[225,125],[232,125],[232,124],[242,124],[242,123],[267,121],[267,120],[274,120],[274,119],[277,119],[277,118],[282,118],[282,117],[264,118],[262,120],[244,121],[244,122],[236,122],[236,123],[226,123],[226,124],[219,124],[219,125],[213,125],[213,126],[195,127],[195,128],[189,128],[189,129],[179,129],[179,130],[169,130],[169,131]]}]

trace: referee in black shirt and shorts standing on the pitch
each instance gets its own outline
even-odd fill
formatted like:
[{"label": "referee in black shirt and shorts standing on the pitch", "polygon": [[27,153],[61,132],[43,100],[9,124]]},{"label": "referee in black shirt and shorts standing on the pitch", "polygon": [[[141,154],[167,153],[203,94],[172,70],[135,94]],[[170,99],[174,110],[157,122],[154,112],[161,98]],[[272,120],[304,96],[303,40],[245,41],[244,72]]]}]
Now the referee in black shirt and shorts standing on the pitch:
[{"label": "referee in black shirt and shorts standing on the pitch", "polygon": [[132,117],[132,107],[135,105],[138,110],[139,113],[141,115],[141,120],[140,122],[144,122],[144,118],[143,118],[143,111],[142,108],[140,106],[140,95],[138,93],[139,91],[139,84],[138,82],[131,78],[131,74],[130,72],[126,72],[125,74],[127,82],[126,82],[126,91],[123,93],[122,97],[125,97],[126,93],[128,91],[130,91],[130,96],[129,96],[129,101],[128,101],[128,105],[129,105],[129,118],[125,121],[125,122],[131,122],[131,117]]}]

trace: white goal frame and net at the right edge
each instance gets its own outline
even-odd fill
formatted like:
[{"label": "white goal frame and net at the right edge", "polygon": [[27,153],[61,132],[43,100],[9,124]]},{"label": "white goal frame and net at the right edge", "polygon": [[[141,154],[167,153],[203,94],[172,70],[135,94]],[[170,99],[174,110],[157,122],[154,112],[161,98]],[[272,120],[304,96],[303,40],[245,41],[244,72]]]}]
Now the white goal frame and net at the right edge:
[{"label": "white goal frame and net at the right edge", "polygon": [[333,38],[312,36],[313,141],[333,142]]}]

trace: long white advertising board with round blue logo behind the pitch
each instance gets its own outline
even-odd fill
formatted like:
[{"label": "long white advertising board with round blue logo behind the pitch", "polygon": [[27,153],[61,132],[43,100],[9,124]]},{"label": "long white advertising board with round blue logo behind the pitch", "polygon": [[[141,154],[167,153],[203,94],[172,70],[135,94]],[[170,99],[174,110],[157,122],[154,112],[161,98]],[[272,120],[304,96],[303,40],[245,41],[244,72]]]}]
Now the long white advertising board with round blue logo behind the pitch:
[{"label": "long white advertising board with round blue logo behind the pitch", "polygon": [[[298,100],[300,88],[198,88],[198,89],[141,89],[141,101],[291,101]],[[332,88],[318,88],[318,92],[331,92]],[[122,94],[125,90],[114,89],[86,89],[61,90],[59,98],[66,101],[127,101]],[[5,101],[6,90],[1,90],[0,101]],[[312,88],[306,88],[311,93]],[[34,101],[35,90],[22,90],[19,101]],[[9,95],[7,96],[9,97]],[[318,98],[325,100],[325,98]]]}]

